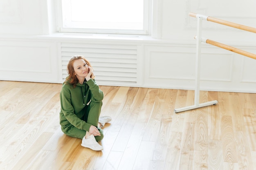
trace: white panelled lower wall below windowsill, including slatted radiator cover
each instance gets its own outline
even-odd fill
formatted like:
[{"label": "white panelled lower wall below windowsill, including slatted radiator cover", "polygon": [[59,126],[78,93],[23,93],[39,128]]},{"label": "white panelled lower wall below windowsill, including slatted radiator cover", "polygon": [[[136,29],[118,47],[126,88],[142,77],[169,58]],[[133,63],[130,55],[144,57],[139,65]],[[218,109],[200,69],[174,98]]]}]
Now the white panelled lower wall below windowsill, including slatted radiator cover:
[{"label": "white panelled lower wall below windowsill, including slatted radiator cover", "polygon": [[[195,44],[2,39],[0,79],[62,83],[70,57],[83,55],[99,85],[193,90],[195,52]],[[256,60],[202,44],[201,62],[201,90],[256,93]]]}]

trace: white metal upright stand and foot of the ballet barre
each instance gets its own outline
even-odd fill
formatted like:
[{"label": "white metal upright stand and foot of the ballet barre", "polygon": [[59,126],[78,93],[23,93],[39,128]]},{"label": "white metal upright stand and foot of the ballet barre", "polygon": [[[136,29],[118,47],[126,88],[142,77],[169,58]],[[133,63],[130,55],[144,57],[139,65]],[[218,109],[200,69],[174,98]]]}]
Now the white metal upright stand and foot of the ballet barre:
[{"label": "white metal upright stand and foot of the ballet barre", "polygon": [[216,105],[218,103],[217,100],[201,103],[199,104],[199,96],[200,96],[200,68],[201,68],[201,39],[202,39],[202,20],[207,20],[207,16],[204,15],[196,15],[197,20],[197,38],[196,38],[196,59],[195,59],[195,103],[193,106],[186,106],[183,108],[174,109],[175,113],[183,112],[186,110],[192,110],[195,108],[201,108],[210,105]]}]

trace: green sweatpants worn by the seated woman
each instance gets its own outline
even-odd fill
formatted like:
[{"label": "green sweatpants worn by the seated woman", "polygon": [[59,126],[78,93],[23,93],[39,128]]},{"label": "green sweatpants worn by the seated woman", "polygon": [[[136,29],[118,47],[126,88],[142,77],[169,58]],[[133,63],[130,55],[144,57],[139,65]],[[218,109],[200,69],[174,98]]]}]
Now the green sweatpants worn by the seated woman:
[{"label": "green sweatpants worn by the seated woman", "polygon": [[[97,127],[101,136],[95,136],[96,141],[101,141],[103,139],[103,130],[98,127],[99,115],[101,113],[101,106],[102,102],[93,102],[91,101],[85,111],[84,121],[88,124],[92,124],[93,126]],[[70,137],[76,137],[83,139],[86,134],[85,130],[76,128],[72,124],[68,124],[65,126],[61,126],[61,130]]]}]

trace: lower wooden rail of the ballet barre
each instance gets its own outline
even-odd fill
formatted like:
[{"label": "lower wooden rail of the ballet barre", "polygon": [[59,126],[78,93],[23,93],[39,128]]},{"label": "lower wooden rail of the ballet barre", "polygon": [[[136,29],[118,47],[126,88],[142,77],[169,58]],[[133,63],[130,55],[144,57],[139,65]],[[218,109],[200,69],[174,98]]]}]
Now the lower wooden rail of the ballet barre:
[{"label": "lower wooden rail of the ballet barre", "polygon": [[243,51],[243,50],[240,50],[240,49],[237,49],[237,48],[234,48],[232,46],[228,46],[226,44],[222,44],[220,42],[216,42],[216,41],[213,41],[213,40],[209,40],[207,39],[205,41],[207,44],[211,44],[211,45],[214,45],[214,46],[218,46],[222,49],[226,49],[226,50],[229,50],[229,51],[232,51],[234,53],[238,53],[238,54],[241,54],[241,55],[245,55],[247,57],[250,57],[250,58],[253,58],[256,60],[256,54],[253,54],[253,53],[249,53],[247,51]]}]

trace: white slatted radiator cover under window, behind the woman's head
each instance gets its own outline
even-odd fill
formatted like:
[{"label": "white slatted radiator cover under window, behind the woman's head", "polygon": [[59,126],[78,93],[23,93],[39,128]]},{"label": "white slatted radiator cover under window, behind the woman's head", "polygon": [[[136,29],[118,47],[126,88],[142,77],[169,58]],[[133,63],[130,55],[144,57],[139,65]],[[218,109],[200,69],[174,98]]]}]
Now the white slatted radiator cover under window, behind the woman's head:
[{"label": "white slatted radiator cover under window, behind the woman's head", "polygon": [[94,68],[98,84],[137,84],[137,46],[116,44],[61,44],[63,80],[72,55],[83,55]]}]

